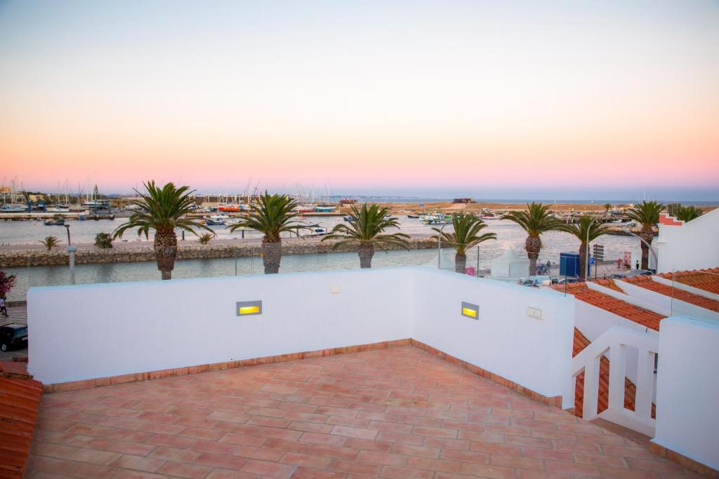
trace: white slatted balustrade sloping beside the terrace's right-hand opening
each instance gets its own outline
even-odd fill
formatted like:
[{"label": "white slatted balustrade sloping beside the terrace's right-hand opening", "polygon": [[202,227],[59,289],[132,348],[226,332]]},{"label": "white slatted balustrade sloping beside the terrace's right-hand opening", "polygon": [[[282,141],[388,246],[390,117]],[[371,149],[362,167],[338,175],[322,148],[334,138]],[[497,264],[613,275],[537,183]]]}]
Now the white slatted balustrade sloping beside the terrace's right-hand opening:
[{"label": "white slatted balustrade sloping beside the terrace's right-hand opening", "polygon": [[[627,348],[636,348],[638,351],[634,411],[624,407]],[[638,332],[615,326],[574,356],[570,388],[572,393],[576,387],[577,375],[585,373],[582,417],[599,417],[654,437],[656,421],[651,417],[651,404],[654,398],[654,357],[658,349],[659,334],[655,331]],[[609,359],[609,404],[605,411],[597,414],[602,356]]]}]

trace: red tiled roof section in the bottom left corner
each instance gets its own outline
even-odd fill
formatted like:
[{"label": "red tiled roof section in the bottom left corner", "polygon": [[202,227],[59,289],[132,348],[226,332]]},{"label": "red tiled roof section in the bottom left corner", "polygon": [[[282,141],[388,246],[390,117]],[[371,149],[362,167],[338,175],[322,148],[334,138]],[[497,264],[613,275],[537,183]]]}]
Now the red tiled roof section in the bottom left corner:
[{"label": "red tiled roof section in the bottom left corner", "polygon": [[40,394],[24,363],[0,361],[0,478],[22,478]]}]

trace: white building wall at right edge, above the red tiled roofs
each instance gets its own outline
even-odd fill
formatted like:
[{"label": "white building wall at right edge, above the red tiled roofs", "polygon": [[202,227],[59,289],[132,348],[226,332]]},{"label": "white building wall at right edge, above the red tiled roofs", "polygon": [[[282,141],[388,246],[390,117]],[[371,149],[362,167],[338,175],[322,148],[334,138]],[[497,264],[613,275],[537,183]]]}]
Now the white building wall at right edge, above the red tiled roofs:
[{"label": "white building wall at right edge, above the red tiled roofs", "polygon": [[719,266],[718,237],[719,208],[682,226],[659,225],[659,238],[652,243],[659,256],[657,272]]}]

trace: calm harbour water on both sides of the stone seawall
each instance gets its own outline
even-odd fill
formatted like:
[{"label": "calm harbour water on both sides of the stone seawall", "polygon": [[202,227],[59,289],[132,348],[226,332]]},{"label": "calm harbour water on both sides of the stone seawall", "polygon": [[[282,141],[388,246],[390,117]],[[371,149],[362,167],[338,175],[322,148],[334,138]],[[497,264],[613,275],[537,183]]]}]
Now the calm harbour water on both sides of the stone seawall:
[{"label": "calm harbour water on both sides of the stone seawall", "polygon": [[[319,219],[324,228],[331,228],[332,225],[342,222],[342,218],[310,218]],[[421,221],[400,217],[401,231],[413,236],[431,236],[434,231],[431,227],[424,225]],[[122,220],[99,220],[99,221],[76,221],[71,222],[73,232],[73,243],[90,243],[96,233],[101,231],[110,232],[121,224]],[[32,222],[1,222],[0,243],[29,243],[47,236],[47,231],[55,231],[55,234],[65,237],[65,228],[33,225]],[[479,248],[472,248],[467,253],[467,266],[478,266],[479,269],[489,269],[492,259],[503,254],[507,248],[512,248],[519,256],[526,257],[524,242],[526,233],[515,223],[505,220],[487,220],[485,232],[497,234],[497,241],[481,243]],[[221,227],[217,227],[221,238],[239,238],[239,233],[231,235]],[[127,233],[128,238],[134,238],[132,232]],[[252,231],[246,232],[246,237],[259,238],[259,235]],[[551,260],[559,264],[559,254],[567,251],[577,251],[580,242],[574,236],[567,233],[553,231],[541,237],[543,247],[540,260]],[[241,241],[241,240],[238,240]],[[189,242],[189,241],[188,241]],[[633,261],[641,254],[639,241],[631,236],[606,235],[597,240],[597,243],[605,246],[605,259],[615,260],[623,256],[625,251],[632,254]],[[61,245],[62,246],[62,245]],[[258,246],[259,248],[259,246]],[[428,266],[436,267],[437,252],[434,249],[412,249],[411,251],[377,251],[372,261],[372,266]],[[454,250],[443,248],[442,267],[454,268]],[[282,272],[294,271],[329,271],[335,269],[358,269],[359,258],[356,253],[322,253],[322,254],[295,254],[285,255],[282,259]],[[17,285],[9,294],[11,300],[24,299],[27,289],[33,286],[51,286],[58,284],[69,284],[68,266],[33,266],[29,268],[5,269],[8,274],[17,274]],[[557,269],[554,269],[557,271]],[[174,278],[195,278],[211,276],[233,276],[262,274],[262,259],[255,257],[241,257],[229,259],[194,259],[177,261]],[[80,264],[76,266],[75,281],[77,283],[108,283],[126,281],[146,281],[160,279],[155,262],[139,263],[115,263],[115,264]]]}]

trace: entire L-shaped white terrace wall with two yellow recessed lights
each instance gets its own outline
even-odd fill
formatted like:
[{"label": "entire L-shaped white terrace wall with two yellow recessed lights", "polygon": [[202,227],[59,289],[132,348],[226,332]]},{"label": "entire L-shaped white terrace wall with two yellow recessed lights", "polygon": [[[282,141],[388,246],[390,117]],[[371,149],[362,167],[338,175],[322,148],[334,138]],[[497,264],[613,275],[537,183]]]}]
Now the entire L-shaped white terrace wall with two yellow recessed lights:
[{"label": "entire L-shaped white terrace wall with two yellow recessed lights", "polygon": [[[574,298],[423,268],[40,287],[27,299],[29,371],[44,383],[413,337],[556,396],[572,361]],[[236,316],[255,299],[262,315]]]}]

